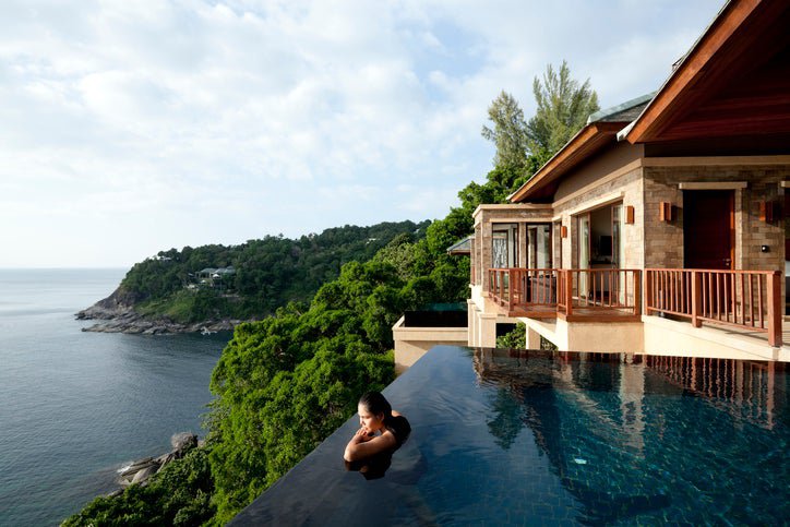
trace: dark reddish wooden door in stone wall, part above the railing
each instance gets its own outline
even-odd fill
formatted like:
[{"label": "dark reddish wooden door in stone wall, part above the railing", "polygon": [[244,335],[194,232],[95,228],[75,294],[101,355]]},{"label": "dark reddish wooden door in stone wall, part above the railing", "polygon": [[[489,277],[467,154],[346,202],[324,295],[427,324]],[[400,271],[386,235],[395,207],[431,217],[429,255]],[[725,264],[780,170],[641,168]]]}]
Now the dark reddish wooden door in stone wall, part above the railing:
[{"label": "dark reddish wooden door in stone wall, part above the railing", "polygon": [[734,268],[734,192],[683,191],[683,262],[686,268]]}]

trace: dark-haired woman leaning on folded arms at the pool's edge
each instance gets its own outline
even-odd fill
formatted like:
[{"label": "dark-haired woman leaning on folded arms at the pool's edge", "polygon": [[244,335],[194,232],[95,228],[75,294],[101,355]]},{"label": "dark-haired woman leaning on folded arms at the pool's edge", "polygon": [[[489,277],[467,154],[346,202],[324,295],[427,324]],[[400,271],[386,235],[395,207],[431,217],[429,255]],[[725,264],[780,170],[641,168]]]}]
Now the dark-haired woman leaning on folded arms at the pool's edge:
[{"label": "dark-haired woman leaning on folded arms at the pool's edge", "polygon": [[363,459],[386,451],[396,451],[408,439],[411,426],[404,416],[393,411],[379,392],[362,395],[357,406],[360,429],[346,445],[343,458]]}]

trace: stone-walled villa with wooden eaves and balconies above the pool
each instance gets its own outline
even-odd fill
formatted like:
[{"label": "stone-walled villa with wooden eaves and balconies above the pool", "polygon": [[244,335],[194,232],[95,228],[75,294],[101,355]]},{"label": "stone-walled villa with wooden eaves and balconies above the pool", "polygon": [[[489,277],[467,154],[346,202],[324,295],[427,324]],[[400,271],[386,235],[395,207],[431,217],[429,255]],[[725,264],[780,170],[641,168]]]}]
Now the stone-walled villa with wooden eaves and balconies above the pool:
[{"label": "stone-walled villa with wooden eaves and balconies above the pool", "polygon": [[[658,92],[480,205],[451,248],[470,254],[467,344],[523,322],[529,348],[790,360],[788,27],[785,2],[729,2]],[[394,333],[404,369],[420,352]]]}]

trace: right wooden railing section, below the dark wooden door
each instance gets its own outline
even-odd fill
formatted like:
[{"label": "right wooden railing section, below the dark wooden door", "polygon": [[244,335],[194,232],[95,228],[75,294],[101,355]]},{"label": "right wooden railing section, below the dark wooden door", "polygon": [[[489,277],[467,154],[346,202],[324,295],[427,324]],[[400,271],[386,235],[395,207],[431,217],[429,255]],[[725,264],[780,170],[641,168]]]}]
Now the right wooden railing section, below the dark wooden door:
[{"label": "right wooden railing section, below the dark wooden door", "polygon": [[778,271],[645,270],[645,312],[765,332],[781,346],[781,276]]}]

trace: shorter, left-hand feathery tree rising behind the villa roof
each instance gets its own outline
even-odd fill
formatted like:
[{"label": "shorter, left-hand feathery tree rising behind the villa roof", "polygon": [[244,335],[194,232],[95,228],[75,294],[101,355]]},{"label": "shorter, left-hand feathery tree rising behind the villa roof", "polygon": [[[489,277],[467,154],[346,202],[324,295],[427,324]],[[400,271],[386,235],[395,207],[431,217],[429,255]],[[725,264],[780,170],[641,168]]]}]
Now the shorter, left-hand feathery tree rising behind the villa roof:
[{"label": "shorter, left-hand feathery tree rising behind the villa roof", "polygon": [[504,89],[488,108],[493,130],[482,127],[482,136],[496,145],[494,166],[522,168],[527,164],[527,123],[518,101]]}]

